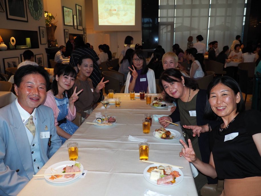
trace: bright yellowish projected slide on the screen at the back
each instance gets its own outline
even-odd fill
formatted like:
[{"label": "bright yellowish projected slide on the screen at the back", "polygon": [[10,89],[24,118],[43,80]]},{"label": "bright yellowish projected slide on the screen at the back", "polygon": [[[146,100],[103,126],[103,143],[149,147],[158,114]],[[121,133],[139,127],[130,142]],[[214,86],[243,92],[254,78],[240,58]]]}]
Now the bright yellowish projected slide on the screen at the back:
[{"label": "bright yellowish projected slide on the screen at the back", "polygon": [[135,0],[98,0],[99,25],[135,25]]}]

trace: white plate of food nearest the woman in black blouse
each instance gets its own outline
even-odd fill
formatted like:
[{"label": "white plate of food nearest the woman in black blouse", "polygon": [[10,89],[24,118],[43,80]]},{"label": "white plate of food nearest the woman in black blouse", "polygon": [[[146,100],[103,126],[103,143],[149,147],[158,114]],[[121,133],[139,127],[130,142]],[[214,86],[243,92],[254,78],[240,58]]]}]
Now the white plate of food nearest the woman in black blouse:
[{"label": "white plate of food nearest the woman in black blouse", "polygon": [[[170,166],[161,166],[160,168],[168,167],[168,169],[164,169],[164,170],[165,170],[165,172],[166,171],[170,172],[169,174],[165,173],[165,175],[162,175],[162,173],[164,173],[164,171],[162,171],[162,169],[158,169],[159,166],[160,165],[158,165],[158,164],[152,164],[144,169],[143,176],[148,182],[150,182],[154,185],[157,185],[157,186],[170,187],[170,186],[177,185],[178,183],[180,183],[183,180],[184,175],[183,175],[183,172],[179,168],[170,167]],[[155,168],[153,168],[153,167],[155,167]],[[154,169],[156,169],[156,170],[154,170]],[[148,171],[150,171],[150,173]],[[153,175],[151,172],[153,172]],[[172,180],[172,181],[170,181],[170,180]],[[164,182],[166,182],[166,183],[164,183]],[[161,183],[161,184],[159,184],[159,183]]]}]

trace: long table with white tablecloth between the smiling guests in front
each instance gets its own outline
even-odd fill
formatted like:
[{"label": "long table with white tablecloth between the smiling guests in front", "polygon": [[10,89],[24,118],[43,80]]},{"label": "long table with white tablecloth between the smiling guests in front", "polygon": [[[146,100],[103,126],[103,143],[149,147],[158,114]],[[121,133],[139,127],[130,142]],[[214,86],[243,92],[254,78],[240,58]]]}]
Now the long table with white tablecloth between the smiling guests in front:
[{"label": "long table with white tablecloth between the smiling guests in front", "polygon": [[[23,195],[144,195],[148,189],[165,195],[197,195],[194,178],[189,162],[179,156],[181,144],[177,140],[160,140],[153,136],[155,129],[160,128],[158,121],[152,119],[149,134],[142,132],[144,114],[170,115],[170,107],[155,108],[146,101],[129,94],[116,93],[121,97],[119,108],[110,104],[107,114],[116,118],[112,126],[96,126],[86,122],[95,122],[96,115],[105,114],[101,103],[83,122],[78,130],[67,140],[37,174],[43,174],[52,164],[68,161],[67,144],[77,142],[79,146],[78,162],[84,167],[85,175],[65,183],[52,183],[44,177],[33,177],[18,194]],[[160,94],[152,94],[152,99]],[[180,132],[179,126],[169,125],[169,129]],[[149,161],[182,166],[183,180],[174,186],[162,187],[148,182],[143,175],[150,163],[139,161],[138,144],[129,140],[129,136],[147,139],[150,144]]]}]

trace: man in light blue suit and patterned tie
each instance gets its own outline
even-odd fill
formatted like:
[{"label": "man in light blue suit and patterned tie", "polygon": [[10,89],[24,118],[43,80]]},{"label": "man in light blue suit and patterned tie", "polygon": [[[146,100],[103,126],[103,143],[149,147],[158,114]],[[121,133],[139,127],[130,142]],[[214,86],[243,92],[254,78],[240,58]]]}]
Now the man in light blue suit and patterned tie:
[{"label": "man in light blue suit and patterned tie", "polygon": [[14,76],[17,99],[0,109],[0,195],[17,195],[62,142],[45,99],[49,75],[22,66]]}]

